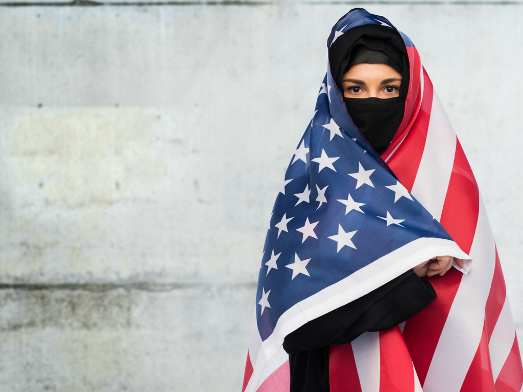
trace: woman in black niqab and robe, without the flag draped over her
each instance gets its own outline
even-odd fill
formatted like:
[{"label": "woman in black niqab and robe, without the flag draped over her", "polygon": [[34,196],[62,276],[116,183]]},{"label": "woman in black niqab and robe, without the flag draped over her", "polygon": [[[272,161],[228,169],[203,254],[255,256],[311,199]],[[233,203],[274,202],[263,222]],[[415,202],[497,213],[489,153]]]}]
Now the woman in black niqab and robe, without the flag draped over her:
[{"label": "woman in black niqab and robe, without the flag draped over her", "polygon": [[[398,46],[403,42],[391,28],[371,26],[361,30],[361,35],[373,30],[396,37]],[[353,37],[347,34],[346,38]],[[403,86],[408,85],[408,71],[403,76],[402,65],[406,55],[388,41],[369,37],[360,38],[345,59],[344,49],[347,45],[341,38],[331,48],[331,58],[342,60],[340,64],[331,63],[332,69],[340,70],[338,88],[358,130],[374,151],[383,153],[403,119],[407,89],[402,89],[402,80]],[[452,261],[450,256],[424,261],[371,293],[291,332],[283,342],[290,354],[290,391],[328,392],[328,345],[349,343],[366,331],[393,328],[418,313],[436,297],[433,286],[423,277],[443,276]],[[456,262],[463,267],[461,259]],[[332,325],[336,325],[335,330],[329,328]]]}]

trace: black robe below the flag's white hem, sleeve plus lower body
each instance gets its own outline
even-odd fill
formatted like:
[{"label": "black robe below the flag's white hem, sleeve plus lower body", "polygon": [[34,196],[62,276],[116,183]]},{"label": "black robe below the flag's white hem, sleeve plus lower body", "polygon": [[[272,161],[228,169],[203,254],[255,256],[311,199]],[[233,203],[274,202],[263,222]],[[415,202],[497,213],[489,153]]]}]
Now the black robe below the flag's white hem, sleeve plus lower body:
[{"label": "black robe below the flag's white hem, sleeve plus lower body", "polygon": [[329,392],[328,345],[366,331],[383,331],[414,316],[436,298],[434,287],[408,270],[378,289],[289,333],[290,392]]}]

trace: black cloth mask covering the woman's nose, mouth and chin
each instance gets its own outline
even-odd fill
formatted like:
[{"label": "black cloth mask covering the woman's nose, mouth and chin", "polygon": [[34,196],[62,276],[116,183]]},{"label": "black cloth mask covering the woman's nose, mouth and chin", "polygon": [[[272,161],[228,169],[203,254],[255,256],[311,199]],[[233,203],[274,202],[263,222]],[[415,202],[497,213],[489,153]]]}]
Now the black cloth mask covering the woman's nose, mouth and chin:
[{"label": "black cloth mask covering the woman's nose, mouth and chin", "polygon": [[350,118],[374,151],[383,153],[403,119],[405,103],[394,98],[343,98]]}]

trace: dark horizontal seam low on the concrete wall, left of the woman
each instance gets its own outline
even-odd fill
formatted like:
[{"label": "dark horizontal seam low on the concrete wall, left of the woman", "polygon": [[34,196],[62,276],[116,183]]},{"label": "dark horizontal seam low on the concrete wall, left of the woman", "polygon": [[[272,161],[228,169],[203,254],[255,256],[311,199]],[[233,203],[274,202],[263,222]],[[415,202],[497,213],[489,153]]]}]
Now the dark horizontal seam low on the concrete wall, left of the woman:
[{"label": "dark horizontal seam low on the concrete wall, left of the woman", "polygon": [[89,291],[106,292],[112,290],[138,290],[138,291],[174,291],[187,289],[256,289],[255,282],[231,283],[231,284],[210,284],[210,283],[151,283],[151,282],[130,282],[130,283],[0,283],[0,290],[24,290],[24,291]]}]

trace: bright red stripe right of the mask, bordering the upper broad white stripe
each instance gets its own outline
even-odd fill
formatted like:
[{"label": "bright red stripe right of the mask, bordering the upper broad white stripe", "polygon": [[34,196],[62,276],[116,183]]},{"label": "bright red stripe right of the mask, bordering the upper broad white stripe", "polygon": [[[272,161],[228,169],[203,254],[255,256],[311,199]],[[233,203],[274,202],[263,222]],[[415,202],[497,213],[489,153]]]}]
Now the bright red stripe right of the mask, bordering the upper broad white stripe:
[{"label": "bright red stripe right of the mask, bordering the upper broad white stripe", "polygon": [[[403,184],[403,186],[410,192],[414,185],[416,173],[418,171],[419,162],[422,160],[425,142],[427,140],[428,124],[430,121],[430,111],[432,109],[433,87],[427,73],[423,70],[425,80],[425,88],[423,90],[422,106],[419,109],[418,115],[410,131],[401,146],[397,149],[394,155],[387,163],[394,174]],[[399,137],[393,144],[401,142],[402,137]],[[395,146],[391,144],[389,149],[393,150]],[[389,153],[385,151],[382,156]]]}]

